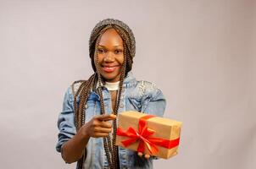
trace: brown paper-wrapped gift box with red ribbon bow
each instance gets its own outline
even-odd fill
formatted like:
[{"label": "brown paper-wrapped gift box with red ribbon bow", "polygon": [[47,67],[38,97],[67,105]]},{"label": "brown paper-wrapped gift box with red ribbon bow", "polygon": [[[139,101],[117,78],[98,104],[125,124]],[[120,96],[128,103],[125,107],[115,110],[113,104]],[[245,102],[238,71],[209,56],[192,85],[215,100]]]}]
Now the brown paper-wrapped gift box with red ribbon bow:
[{"label": "brown paper-wrapped gift box with red ribbon bow", "polygon": [[118,116],[115,144],[143,154],[168,159],[178,152],[181,122],[141,112]]}]

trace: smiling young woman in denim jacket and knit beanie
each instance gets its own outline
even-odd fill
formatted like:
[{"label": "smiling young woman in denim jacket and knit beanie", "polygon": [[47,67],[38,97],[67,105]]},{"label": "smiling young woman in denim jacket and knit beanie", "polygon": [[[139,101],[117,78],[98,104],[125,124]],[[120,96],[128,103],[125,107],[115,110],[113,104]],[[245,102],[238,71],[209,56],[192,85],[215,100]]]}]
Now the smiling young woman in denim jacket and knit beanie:
[{"label": "smiling young woman in denim jacket and knit beanie", "polygon": [[92,30],[95,74],[68,88],[58,117],[56,149],[67,163],[77,161],[76,168],[153,168],[153,157],[114,145],[119,112],[164,114],[161,90],[131,74],[135,48],[131,29],[120,20],[104,19]]}]

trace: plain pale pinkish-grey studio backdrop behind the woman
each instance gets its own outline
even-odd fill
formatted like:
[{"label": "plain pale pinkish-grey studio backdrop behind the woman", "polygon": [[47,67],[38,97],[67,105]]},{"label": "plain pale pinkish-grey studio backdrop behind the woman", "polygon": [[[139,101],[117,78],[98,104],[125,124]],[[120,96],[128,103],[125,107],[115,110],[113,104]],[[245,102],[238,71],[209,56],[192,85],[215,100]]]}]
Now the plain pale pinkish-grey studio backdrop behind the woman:
[{"label": "plain pale pinkish-grey studio backdrop behind the woman", "polygon": [[75,168],[55,150],[58,113],[106,18],[134,31],[133,73],[183,122],[179,154],[155,168],[256,168],[253,0],[0,0],[0,168]]}]

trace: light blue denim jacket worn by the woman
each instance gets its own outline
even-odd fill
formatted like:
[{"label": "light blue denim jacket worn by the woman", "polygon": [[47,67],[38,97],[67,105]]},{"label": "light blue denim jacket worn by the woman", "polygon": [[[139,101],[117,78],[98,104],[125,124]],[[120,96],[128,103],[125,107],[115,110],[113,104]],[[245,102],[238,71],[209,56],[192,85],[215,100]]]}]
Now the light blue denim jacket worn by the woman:
[{"label": "light blue denim jacket worn by the woman", "polygon": [[[103,100],[106,113],[112,112],[111,98],[109,90],[103,87]],[[79,101],[79,98],[77,98]],[[91,92],[86,103],[86,123],[93,116],[100,114],[99,95]],[[63,111],[58,117],[58,143],[56,150],[61,151],[61,146],[71,139],[75,134],[74,123],[74,96],[71,87],[64,95]],[[137,81],[130,73],[124,80],[124,87],[121,94],[119,112],[136,111],[153,114],[163,117],[165,109],[165,99],[161,90],[153,83],[147,81]],[[103,149],[102,138],[91,138],[86,145],[87,155],[84,163],[85,168],[109,168],[108,160]],[[153,168],[153,157],[149,160],[141,158],[135,151],[119,147],[120,168]]]}]

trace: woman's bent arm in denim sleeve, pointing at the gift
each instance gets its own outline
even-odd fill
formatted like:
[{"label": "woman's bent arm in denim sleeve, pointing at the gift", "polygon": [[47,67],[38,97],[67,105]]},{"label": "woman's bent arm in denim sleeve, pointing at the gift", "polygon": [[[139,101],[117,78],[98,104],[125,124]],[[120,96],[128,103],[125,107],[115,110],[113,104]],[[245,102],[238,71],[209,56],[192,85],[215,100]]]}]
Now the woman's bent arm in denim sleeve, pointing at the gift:
[{"label": "woman's bent arm in denim sleeve, pointing at the gift", "polygon": [[74,98],[69,88],[64,95],[63,110],[58,117],[58,144],[56,150],[61,152],[64,161],[72,163],[78,161],[86,150],[86,144],[91,137],[99,138],[109,135],[115,115],[99,115],[85,123],[77,132],[74,123]]}]

